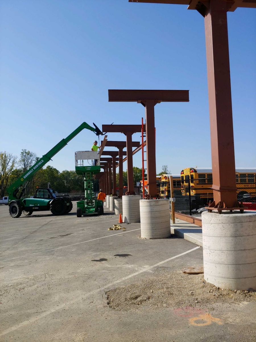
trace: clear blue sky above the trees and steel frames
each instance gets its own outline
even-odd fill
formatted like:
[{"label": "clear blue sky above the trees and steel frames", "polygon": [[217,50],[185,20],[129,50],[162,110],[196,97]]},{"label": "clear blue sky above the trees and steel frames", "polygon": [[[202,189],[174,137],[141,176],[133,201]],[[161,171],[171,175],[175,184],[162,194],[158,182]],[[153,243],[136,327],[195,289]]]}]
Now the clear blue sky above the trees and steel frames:
[{"label": "clear blue sky above the trees and steel frames", "polygon": [[[256,10],[229,12],[228,28],[236,166],[256,167]],[[0,150],[42,156],[83,121],[140,124],[144,107],[109,103],[108,89],[188,89],[189,103],[155,107],[157,171],[211,167],[197,11],[128,0],[2,0],[0,39]],[[74,152],[95,137],[82,131],[50,165],[74,169]],[[141,153],[133,165],[141,167]]]}]

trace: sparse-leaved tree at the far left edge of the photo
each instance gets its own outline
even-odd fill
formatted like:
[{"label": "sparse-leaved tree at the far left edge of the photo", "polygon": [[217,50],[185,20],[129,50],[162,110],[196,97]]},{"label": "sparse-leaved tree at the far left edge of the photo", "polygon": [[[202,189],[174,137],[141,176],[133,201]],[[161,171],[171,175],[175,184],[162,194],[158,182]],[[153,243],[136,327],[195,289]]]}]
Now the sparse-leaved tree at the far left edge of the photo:
[{"label": "sparse-leaved tree at the far left edge of the photo", "polygon": [[6,151],[0,152],[0,196],[3,197],[6,194],[6,188],[9,185],[9,180],[12,171],[15,168],[16,156]]}]

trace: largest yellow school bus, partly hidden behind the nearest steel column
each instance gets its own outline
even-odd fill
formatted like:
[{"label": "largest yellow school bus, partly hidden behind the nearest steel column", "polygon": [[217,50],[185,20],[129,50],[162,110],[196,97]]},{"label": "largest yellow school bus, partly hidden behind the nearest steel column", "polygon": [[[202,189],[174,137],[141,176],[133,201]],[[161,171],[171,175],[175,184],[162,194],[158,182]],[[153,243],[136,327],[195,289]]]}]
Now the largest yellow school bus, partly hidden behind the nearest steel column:
[{"label": "largest yellow school bus, partly hidden behind the nearest steel column", "polygon": [[[256,168],[236,168],[236,183],[238,201],[256,200]],[[181,193],[183,196],[189,195],[189,185],[190,196],[200,198],[203,204],[212,200],[212,169],[183,169],[181,171]]]}]

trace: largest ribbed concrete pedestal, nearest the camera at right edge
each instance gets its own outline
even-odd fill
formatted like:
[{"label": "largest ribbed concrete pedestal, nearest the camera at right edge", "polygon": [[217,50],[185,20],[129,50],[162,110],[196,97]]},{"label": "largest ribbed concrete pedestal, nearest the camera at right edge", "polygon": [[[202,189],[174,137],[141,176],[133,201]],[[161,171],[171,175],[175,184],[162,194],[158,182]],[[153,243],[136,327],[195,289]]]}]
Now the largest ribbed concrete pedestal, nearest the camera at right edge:
[{"label": "largest ribbed concrete pedestal, nearest the camera at right edge", "polygon": [[256,214],[202,213],[204,279],[232,290],[256,290]]}]

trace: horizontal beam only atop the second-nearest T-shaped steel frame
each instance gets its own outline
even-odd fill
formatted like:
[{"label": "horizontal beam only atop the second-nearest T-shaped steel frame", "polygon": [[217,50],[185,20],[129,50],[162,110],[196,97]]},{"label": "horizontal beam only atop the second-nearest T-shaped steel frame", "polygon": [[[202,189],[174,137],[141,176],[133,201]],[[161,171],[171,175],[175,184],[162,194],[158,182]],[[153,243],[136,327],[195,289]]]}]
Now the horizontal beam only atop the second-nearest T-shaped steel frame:
[{"label": "horizontal beam only atop the second-nearest T-shaped steel frame", "polygon": [[[109,90],[109,102],[140,102],[140,101],[188,102],[189,91],[188,90]],[[103,131],[113,132],[113,131],[110,131],[110,130],[108,131],[104,129]]]}]

